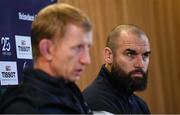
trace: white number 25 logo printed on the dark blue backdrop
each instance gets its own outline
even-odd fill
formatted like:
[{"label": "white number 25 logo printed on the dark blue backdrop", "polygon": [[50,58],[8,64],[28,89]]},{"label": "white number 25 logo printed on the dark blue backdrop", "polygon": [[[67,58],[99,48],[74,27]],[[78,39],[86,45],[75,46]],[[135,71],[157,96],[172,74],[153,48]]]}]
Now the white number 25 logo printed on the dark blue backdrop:
[{"label": "white number 25 logo printed on the dark blue backdrop", "polygon": [[4,56],[11,56],[11,43],[10,43],[10,37],[1,37],[1,53]]}]

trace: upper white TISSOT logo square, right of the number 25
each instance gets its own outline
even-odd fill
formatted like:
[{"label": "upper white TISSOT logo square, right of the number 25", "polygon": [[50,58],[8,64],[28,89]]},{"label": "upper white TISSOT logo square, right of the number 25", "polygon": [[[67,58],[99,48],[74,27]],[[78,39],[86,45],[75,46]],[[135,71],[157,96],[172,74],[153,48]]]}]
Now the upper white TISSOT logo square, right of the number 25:
[{"label": "upper white TISSOT logo square, right of the number 25", "polygon": [[32,59],[31,38],[29,36],[15,35],[16,52],[18,59]]}]

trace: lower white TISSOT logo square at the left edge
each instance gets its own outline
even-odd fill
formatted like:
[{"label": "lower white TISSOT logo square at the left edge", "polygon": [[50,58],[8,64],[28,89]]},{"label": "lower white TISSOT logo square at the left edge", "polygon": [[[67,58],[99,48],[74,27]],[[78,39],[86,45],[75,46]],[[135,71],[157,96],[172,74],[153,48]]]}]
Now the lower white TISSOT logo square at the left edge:
[{"label": "lower white TISSOT logo square at the left edge", "polygon": [[12,61],[0,61],[1,85],[17,85],[17,64]]}]

